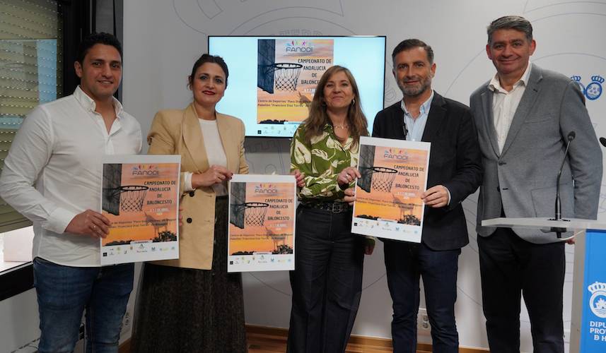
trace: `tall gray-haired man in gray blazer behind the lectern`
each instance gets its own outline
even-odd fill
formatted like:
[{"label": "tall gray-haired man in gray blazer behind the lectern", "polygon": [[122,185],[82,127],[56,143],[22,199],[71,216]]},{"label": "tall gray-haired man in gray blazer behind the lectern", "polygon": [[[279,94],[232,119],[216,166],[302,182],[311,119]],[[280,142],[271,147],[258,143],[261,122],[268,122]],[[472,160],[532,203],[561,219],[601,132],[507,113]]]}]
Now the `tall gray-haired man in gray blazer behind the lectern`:
[{"label": "tall gray-haired man in gray blazer behind the lectern", "polygon": [[534,352],[564,352],[564,243],[556,234],[482,227],[494,217],[554,215],[561,172],[562,216],[595,219],[602,152],[583,93],[569,78],[529,63],[532,25],[506,16],[488,27],[486,53],[496,75],[470,98],[482,149],[484,181],[477,209],[482,301],[491,352],[520,350],[520,294]]}]

